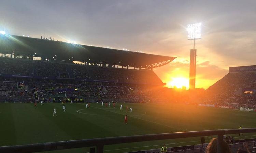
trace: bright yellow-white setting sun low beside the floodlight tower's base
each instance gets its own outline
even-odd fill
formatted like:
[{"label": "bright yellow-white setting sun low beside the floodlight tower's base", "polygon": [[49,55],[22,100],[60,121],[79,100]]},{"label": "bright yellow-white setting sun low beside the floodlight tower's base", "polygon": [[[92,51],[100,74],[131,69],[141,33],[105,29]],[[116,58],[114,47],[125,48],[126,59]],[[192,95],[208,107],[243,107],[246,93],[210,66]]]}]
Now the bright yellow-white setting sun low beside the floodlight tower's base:
[{"label": "bright yellow-white setting sun low beside the floodlight tower's base", "polygon": [[166,83],[166,86],[168,88],[173,88],[174,86],[176,86],[177,88],[182,88],[183,86],[185,86],[186,89],[188,89],[189,79],[183,77],[171,78],[171,80]]}]

